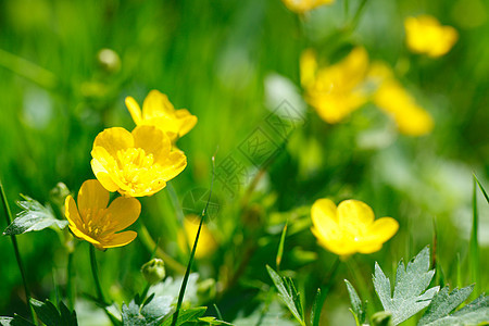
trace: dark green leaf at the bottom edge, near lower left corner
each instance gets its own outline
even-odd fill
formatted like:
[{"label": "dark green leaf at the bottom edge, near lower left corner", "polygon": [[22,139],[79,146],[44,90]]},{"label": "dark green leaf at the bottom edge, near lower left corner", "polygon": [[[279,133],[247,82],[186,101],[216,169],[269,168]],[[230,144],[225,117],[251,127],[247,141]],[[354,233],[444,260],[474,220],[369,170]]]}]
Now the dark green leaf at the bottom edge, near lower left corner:
[{"label": "dark green leaf at the bottom edge, near lower left corner", "polygon": [[30,304],[36,311],[37,316],[47,326],[76,326],[76,313],[71,312],[63,302],[60,301],[58,310],[51,301],[45,302],[30,298]]}]

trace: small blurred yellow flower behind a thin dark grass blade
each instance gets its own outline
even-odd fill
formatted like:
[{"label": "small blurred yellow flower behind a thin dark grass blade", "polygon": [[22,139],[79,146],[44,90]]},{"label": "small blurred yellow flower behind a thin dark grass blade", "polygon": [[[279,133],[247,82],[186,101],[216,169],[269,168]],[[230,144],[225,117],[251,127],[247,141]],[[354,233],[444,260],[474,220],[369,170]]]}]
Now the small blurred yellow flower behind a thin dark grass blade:
[{"label": "small blurred yellow flower behind a thin dark grass blade", "polygon": [[[187,215],[184,218],[184,229],[178,231],[178,246],[186,251],[192,248],[196,240],[197,230],[199,229],[200,217],[193,214]],[[217,242],[214,239],[211,230],[205,224],[202,224],[200,230],[199,242],[197,243],[196,258],[206,258],[217,249]]]}]

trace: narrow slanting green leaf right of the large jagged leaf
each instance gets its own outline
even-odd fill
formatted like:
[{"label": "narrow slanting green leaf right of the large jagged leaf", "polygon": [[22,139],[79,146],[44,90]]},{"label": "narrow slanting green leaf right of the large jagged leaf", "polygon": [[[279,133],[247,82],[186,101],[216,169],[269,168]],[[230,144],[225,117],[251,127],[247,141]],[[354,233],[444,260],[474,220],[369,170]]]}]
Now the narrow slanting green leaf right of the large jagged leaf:
[{"label": "narrow slanting green leaf right of the large jagged leaf", "polygon": [[427,325],[441,317],[448,316],[455,308],[464,302],[471,296],[474,286],[468,286],[462,289],[454,289],[449,293],[449,287],[444,287],[432,298],[418,325]]}]

